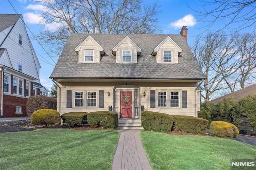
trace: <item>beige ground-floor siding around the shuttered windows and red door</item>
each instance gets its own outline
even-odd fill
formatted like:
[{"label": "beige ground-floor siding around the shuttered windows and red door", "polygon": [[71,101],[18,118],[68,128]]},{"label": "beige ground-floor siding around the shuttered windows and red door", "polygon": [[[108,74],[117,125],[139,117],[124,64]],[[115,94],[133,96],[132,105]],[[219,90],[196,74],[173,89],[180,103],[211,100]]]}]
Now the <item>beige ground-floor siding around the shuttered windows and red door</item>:
[{"label": "beige ground-floor siding around the shuttered windows and red door", "polygon": [[[116,94],[116,107],[120,109],[120,91],[124,90],[135,90],[139,92],[139,110],[140,106],[144,106],[145,110],[149,111],[158,111],[162,113],[167,113],[170,115],[189,115],[196,116],[196,83],[131,83],[131,86],[124,85],[123,83],[62,83],[62,88],[60,89],[60,114],[73,112],[73,111],[100,111],[108,110],[108,106],[114,106],[114,90]],[[122,86],[123,85],[123,86]],[[118,87],[118,88],[116,88]],[[116,89],[115,89],[116,88]],[[66,108],[66,91],[72,90],[72,108]],[[104,90],[104,108],[98,108],[98,91]],[[156,90],[156,108],[150,108],[150,90]],[[187,91],[187,108],[182,109],[182,91]],[[75,91],[84,91],[84,107],[74,107],[74,92]],[[86,91],[96,91],[97,92],[97,107],[86,107]],[[167,92],[167,105],[168,107],[158,107],[157,101],[157,92],[166,91]],[[110,96],[108,96],[110,92]],[[146,96],[143,96],[143,93],[146,93]],[[180,107],[170,107],[170,92],[180,92]],[[133,96],[134,97],[134,96]],[[134,101],[134,100],[133,100]],[[59,103],[58,103],[59,105]],[[120,110],[118,110],[120,111]]]}]

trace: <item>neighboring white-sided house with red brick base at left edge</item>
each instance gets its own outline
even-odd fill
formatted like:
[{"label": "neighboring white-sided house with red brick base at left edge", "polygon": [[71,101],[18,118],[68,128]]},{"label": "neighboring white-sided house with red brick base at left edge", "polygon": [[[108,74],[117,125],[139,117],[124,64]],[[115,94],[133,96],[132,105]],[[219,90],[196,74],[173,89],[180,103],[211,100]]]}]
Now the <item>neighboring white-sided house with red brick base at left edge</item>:
[{"label": "neighboring white-sided house with red brick base at left edge", "polygon": [[40,84],[40,68],[22,15],[0,14],[0,70],[3,70],[0,103],[3,117],[27,116],[28,97],[46,91]]}]

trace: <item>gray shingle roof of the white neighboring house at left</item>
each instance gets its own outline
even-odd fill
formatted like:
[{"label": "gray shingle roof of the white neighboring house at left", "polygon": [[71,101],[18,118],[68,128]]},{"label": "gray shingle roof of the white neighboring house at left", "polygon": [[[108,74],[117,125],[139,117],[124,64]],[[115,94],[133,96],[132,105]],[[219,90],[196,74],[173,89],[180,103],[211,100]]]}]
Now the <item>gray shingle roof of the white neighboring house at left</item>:
[{"label": "gray shingle roof of the white neighboring house at left", "polygon": [[21,14],[0,14],[0,31],[15,24],[20,16]]}]

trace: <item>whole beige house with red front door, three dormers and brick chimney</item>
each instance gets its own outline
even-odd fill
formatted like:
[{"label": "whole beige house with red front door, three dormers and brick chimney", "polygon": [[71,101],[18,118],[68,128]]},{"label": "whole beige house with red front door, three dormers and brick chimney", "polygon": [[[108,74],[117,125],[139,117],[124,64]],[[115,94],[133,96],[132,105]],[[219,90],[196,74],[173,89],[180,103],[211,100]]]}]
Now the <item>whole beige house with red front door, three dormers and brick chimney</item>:
[{"label": "whole beige house with red front door, three dormers and brick chimney", "polygon": [[205,78],[184,35],[71,34],[50,78],[58,111],[141,110],[197,117]]}]

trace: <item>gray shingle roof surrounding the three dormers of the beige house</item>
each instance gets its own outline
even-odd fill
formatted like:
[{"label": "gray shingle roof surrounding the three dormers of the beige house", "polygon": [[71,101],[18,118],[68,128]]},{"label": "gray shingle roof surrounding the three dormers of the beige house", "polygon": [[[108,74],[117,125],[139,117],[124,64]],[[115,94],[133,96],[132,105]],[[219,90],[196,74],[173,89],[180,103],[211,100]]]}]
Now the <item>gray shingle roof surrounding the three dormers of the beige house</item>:
[{"label": "gray shingle roof surrounding the three dormers of the beige house", "polygon": [[[78,63],[74,51],[88,35],[102,48],[105,55],[100,63]],[[147,79],[203,79],[205,78],[187,42],[181,35],[128,34],[142,49],[138,63],[116,63],[112,55],[115,47],[127,34],[71,34],[50,78],[147,78]],[[156,63],[151,53],[167,36],[183,50],[177,64]]]}]

